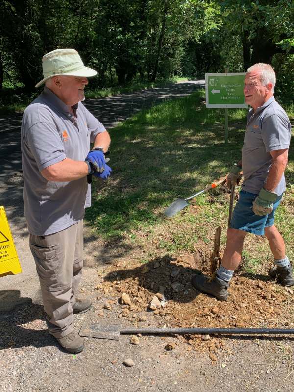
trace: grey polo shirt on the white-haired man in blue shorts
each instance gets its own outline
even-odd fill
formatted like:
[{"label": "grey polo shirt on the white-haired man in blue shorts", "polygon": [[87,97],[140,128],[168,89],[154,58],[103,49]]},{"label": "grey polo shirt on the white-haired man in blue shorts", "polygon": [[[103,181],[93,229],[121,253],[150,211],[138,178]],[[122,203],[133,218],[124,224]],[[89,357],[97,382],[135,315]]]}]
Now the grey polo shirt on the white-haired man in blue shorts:
[{"label": "grey polo shirt on the white-haired man in blue shorts", "polygon": [[[255,112],[247,116],[247,128],[242,148],[242,189],[259,194],[270,171],[270,151],[289,148],[291,124],[285,110],[271,97]],[[281,195],[286,189],[285,176],[275,189]]]}]

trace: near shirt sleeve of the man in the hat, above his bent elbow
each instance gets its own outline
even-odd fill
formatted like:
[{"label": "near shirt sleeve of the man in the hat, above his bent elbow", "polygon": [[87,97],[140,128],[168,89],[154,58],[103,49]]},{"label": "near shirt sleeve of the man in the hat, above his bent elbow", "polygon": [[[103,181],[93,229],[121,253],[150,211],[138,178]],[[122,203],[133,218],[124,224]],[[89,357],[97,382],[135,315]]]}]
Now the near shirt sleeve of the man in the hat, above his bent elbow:
[{"label": "near shirt sleeve of the man in the hat, above his bent elbow", "polygon": [[27,147],[41,172],[66,158],[61,136],[51,123],[36,123],[25,133]]}]

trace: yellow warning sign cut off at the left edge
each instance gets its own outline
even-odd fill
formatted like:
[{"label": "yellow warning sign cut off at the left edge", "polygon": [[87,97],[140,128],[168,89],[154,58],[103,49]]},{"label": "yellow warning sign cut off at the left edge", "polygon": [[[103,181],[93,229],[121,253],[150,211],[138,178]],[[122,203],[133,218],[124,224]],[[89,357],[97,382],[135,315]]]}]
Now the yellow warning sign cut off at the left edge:
[{"label": "yellow warning sign cut off at the left edge", "polygon": [[4,207],[0,207],[0,277],[21,272],[6,213]]}]

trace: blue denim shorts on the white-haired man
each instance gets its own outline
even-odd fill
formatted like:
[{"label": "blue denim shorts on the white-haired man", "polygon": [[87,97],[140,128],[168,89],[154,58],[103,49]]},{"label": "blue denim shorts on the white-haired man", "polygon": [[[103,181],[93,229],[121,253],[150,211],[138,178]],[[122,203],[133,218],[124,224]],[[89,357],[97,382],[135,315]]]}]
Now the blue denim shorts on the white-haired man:
[{"label": "blue denim shorts on the white-haired man", "polygon": [[258,195],[241,190],[239,200],[234,208],[230,227],[237,230],[262,236],[265,234],[265,227],[274,224],[274,213],[278,208],[282,195],[278,196],[273,204],[273,210],[267,215],[255,215],[252,211],[252,203]]}]

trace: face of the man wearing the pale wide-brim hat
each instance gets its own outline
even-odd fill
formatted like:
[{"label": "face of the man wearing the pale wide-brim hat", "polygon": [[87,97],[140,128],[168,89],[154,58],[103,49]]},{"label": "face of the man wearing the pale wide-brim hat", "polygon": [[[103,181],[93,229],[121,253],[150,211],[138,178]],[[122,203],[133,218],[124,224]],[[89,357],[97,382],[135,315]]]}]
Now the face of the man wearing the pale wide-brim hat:
[{"label": "face of the man wearing the pale wide-brim hat", "polygon": [[86,77],[60,76],[59,98],[69,106],[85,99],[84,88],[88,84]]}]

